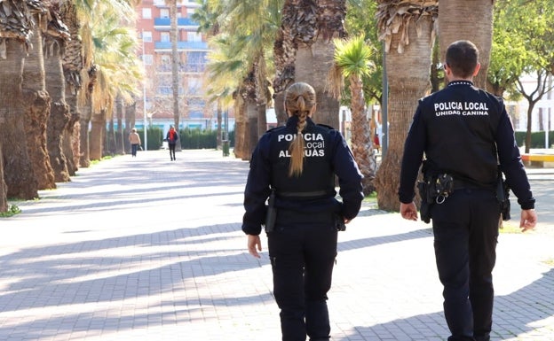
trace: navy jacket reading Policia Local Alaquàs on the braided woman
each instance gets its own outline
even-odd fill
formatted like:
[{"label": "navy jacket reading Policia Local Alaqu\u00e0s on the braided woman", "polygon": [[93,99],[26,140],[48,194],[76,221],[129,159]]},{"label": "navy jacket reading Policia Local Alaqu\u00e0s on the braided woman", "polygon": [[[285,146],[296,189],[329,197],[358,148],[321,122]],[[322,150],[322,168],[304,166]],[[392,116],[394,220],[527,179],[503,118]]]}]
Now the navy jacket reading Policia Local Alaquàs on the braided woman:
[{"label": "navy jacket reading Policia Local Alaqu\u00e0s on the braided woman", "polygon": [[[276,190],[278,216],[289,211],[312,216],[336,213],[353,219],[360,212],[362,176],[343,136],[333,128],[306,120],[303,173],[289,177],[289,144],[297,138],[297,121],[292,116],[285,127],[268,130],[252,153],[244,190],[242,230],[246,234],[260,234],[270,188]],[[335,198],[335,175],[342,202]]]}]

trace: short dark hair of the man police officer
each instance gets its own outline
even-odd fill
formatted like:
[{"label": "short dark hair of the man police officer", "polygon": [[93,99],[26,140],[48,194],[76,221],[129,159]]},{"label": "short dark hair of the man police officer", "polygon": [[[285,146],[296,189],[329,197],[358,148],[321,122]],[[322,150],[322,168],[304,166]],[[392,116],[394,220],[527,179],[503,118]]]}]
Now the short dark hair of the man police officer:
[{"label": "short dark hair of the man police officer", "polygon": [[479,63],[479,50],[469,40],[451,43],[447,49],[446,63],[452,74],[463,78],[471,77]]}]

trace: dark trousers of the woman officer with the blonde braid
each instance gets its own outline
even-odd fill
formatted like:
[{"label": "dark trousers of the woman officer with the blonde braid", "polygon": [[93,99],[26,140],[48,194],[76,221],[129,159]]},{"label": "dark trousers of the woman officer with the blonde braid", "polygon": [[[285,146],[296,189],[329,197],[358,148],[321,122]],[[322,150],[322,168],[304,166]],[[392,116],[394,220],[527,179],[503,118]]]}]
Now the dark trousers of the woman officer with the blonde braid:
[{"label": "dark trousers of the woman officer with the blonde braid", "polygon": [[328,340],[327,292],[336,259],[334,224],[275,226],[268,234],[283,341]]}]

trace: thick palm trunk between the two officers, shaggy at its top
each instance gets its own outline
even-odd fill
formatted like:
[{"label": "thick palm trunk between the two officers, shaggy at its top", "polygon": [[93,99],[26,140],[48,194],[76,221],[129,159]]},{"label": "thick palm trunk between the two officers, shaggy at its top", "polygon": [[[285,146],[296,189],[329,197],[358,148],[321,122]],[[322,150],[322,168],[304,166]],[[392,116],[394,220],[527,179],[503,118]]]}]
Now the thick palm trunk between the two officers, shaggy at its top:
[{"label": "thick palm trunk between the two officers, shaggy at its top", "polygon": [[[384,1],[378,4],[378,27],[384,40],[389,83],[388,150],[377,170],[377,203],[398,211],[400,160],[417,100],[430,88],[431,50],[437,1]],[[386,134],[386,133],[385,133]]]}]

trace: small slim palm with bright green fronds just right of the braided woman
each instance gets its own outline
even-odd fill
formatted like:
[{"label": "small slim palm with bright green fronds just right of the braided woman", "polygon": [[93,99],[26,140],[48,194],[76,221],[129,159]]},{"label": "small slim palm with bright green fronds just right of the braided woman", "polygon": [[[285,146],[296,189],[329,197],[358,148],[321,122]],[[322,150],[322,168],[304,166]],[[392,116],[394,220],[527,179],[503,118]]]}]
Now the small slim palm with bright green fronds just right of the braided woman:
[{"label": "small slim palm with bright green fronds just right of the braided woman", "polygon": [[[362,35],[347,41],[335,39],[335,63],[337,73],[348,80],[351,92],[352,154],[360,167],[364,194],[375,191],[377,161],[373,152],[371,128],[366,115],[362,76],[368,76],[375,68],[369,64],[372,55]],[[342,78],[342,77],[341,77]]]}]

